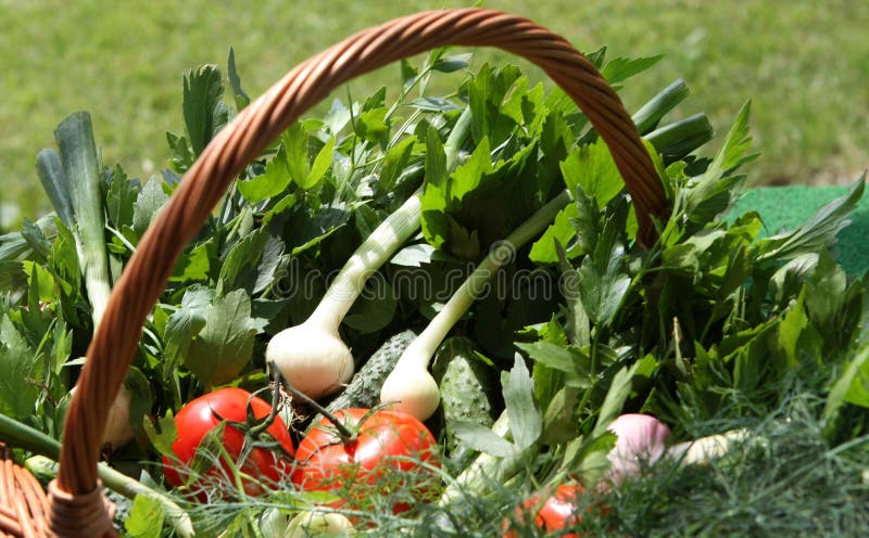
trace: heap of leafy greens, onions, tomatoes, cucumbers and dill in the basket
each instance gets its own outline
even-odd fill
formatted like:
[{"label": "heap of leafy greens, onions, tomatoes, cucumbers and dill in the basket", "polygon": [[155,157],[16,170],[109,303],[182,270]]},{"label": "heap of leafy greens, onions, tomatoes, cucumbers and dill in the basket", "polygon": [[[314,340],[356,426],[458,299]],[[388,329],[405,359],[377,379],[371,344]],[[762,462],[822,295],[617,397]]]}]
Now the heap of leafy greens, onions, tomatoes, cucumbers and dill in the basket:
[{"label": "heap of leafy greens, onions, tomatoes, cucumbers and dill in the basket", "polygon": [[[659,60],[589,57],[617,88]],[[869,465],[865,284],[832,254],[862,178],[794,230],[730,214],[755,157],[750,106],[701,151],[704,114],[665,119],[690,93],[678,80],[633,115],[672,209],[646,248],[569,98],[470,60],[402,62],[394,100],[382,88],[333,101],[234,182],[178,260],[112,411],[101,477],[131,499],[113,494],[118,525],[764,534],[793,514],[735,523],[747,515],[733,492],[746,476],[792,487],[801,473],[768,457],[798,437],[835,462],[813,487],[844,488],[806,531],[869,528],[853,472]],[[433,76],[455,90],[432,95]],[[0,440],[43,475],[53,467],[33,457],[56,457],[112,283],[249,103],[231,51],[227,80],[213,65],[187,74],[184,133],[167,133],[169,168],[146,182],[100,162],[86,113],[65,119],[60,152],[37,159],[55,212],[0,236]]]}]

